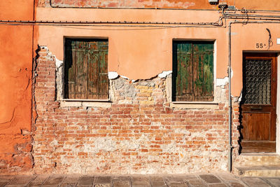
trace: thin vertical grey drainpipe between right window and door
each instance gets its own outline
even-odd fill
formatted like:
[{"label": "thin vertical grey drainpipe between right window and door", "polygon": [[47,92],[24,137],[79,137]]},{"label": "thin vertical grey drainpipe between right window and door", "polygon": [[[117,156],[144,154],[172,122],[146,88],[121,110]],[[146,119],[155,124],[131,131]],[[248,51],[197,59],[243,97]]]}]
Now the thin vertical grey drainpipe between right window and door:
[{"label": "thin vertical grey drainpipe between right window and door", "polygon": [[232,22],[228,24],[228,172],[232,172]]}]

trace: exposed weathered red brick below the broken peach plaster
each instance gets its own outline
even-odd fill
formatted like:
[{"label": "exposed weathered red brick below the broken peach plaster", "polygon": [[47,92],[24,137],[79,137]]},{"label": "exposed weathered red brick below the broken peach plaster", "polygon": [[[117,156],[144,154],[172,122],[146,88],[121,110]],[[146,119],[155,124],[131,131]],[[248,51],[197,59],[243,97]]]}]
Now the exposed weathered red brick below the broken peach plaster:
[{"label": "exposed weathered red brick below the broken peach plaster", "polygon": [[111,80],[109,108],[61,107],[55,94],[55,57],[46,48],[38,55],[34,172],[179,174],[227,169],[227,103],[216,109],[171,108],[167,80],[157,77],[134,83]]}]

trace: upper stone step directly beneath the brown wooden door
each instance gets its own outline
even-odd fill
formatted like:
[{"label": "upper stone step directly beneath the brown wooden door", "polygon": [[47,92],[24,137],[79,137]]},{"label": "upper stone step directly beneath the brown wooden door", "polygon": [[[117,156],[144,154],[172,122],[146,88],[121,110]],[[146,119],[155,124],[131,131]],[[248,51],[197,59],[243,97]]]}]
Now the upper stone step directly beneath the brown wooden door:
[{"label": "upper stone step directly beneath the brown wooden door", "polygon": [[237,166],[280,165],[280,155],[276,153],[242,153],[235,161]]}]

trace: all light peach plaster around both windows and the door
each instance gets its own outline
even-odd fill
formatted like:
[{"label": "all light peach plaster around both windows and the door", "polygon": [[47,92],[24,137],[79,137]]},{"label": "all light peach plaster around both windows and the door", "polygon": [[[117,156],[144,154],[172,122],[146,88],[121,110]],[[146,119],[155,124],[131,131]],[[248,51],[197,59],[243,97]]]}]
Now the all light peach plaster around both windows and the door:
[{"label": "all light peach plaster around both windows and the door", "polygon": [[[258,6],[258,8],[260,8]],[[258,13],[269,14],[269,13]],[[133,22],[216,22],[218,11],[122,10],[38,8],[38,20],[68,21],[133,21]],[[274,13],[274,15],[277,15]],[[269,28],[274,45],[267,43]],[[130,79],[148,79],[162,71],[172,70],[172,40],[202,39],[216,41],[216,78],[228,76],[228,27],[39,27],[38,44],[47,46],[58,60],[63,60],[64,37],[97,37],[109,39],[109,71]],[[238,97],[242,88],[242,51],[280,51],[276,24],[232,25],[232,95]]]}]

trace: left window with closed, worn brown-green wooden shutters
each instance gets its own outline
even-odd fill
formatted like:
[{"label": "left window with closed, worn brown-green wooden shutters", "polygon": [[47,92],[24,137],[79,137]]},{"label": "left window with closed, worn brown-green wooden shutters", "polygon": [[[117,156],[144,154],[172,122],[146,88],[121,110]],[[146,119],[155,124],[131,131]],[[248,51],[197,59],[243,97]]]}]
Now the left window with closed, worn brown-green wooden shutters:
[{"label": "left window with closed, worn brown-green wooden shutters", "polygon": [[108,97],[108,40],[65,39],[64,98]]}]

